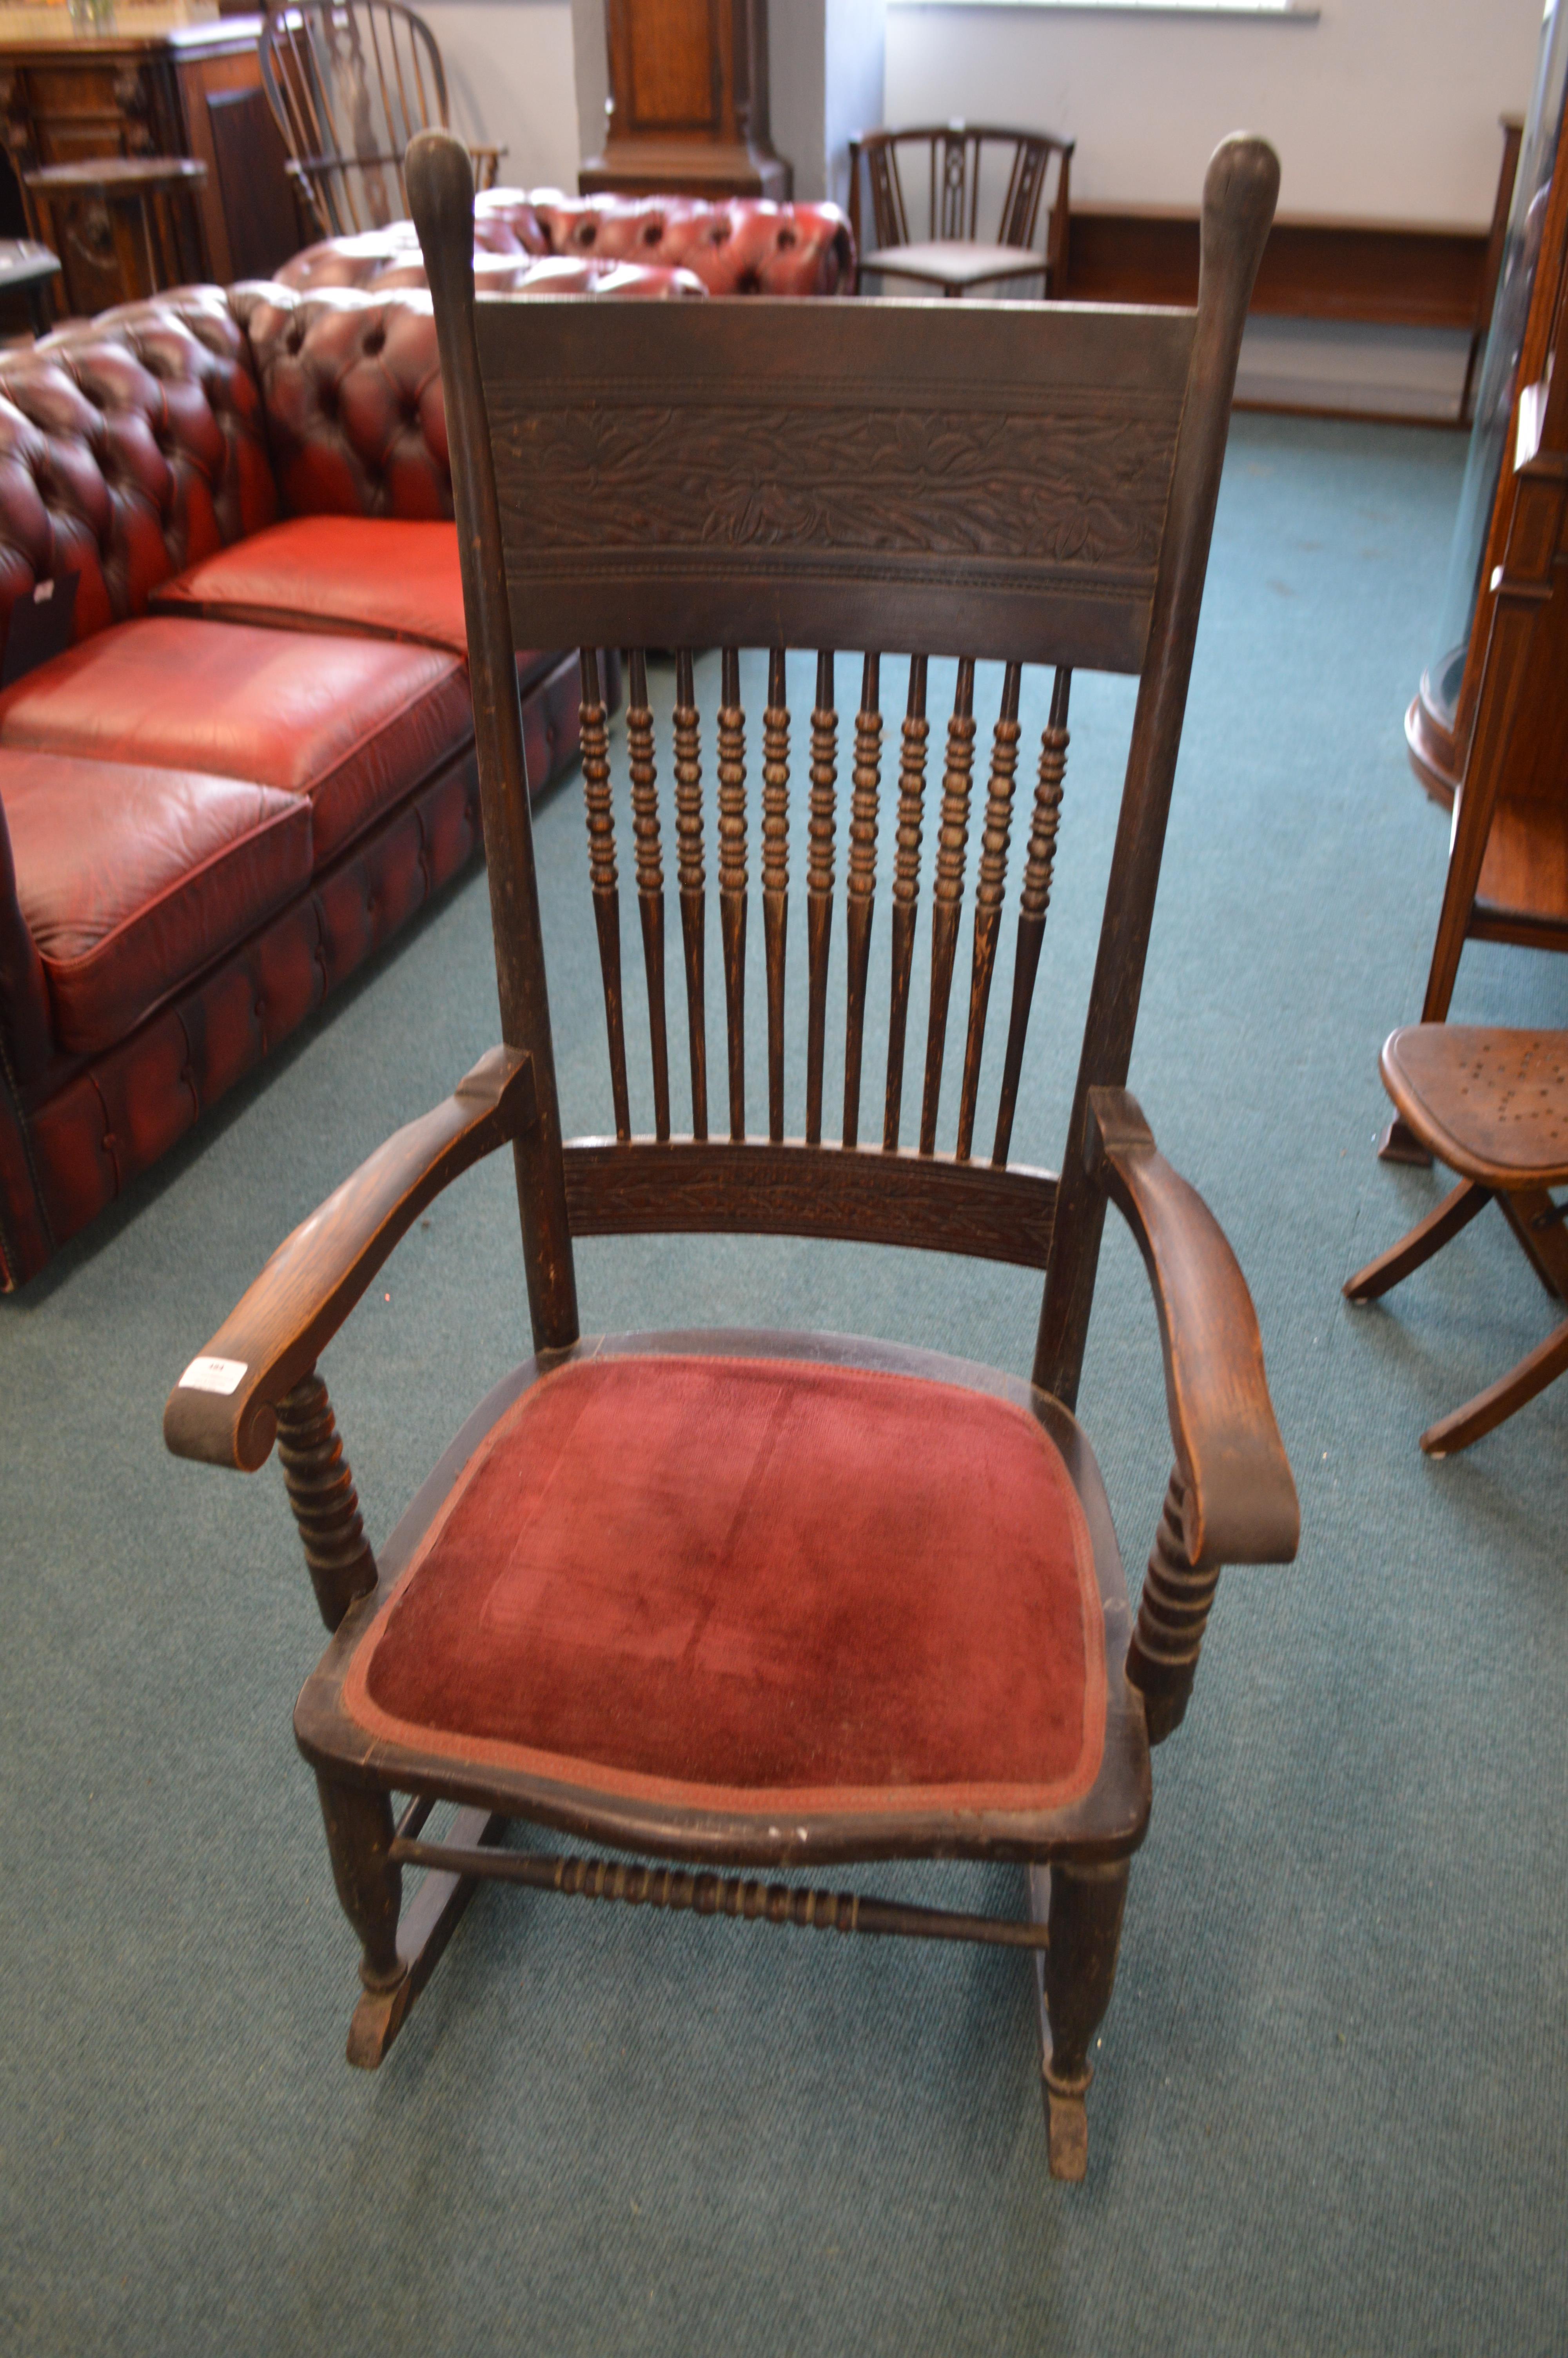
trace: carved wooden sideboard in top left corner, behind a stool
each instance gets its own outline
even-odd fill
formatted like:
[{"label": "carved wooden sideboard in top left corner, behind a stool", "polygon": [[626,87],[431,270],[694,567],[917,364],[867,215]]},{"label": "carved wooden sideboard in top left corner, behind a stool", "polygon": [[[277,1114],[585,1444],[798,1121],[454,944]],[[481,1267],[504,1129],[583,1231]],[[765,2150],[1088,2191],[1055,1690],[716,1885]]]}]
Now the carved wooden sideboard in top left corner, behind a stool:
[{"label": "carved wooden sideboard in top left corner, behind a stool", "polygon": [[[125,9],[106,33],[73,33],[64,7],[0,9],[0,141],[17,179],[92,156],[191,156],[207,167],[205,274],[224,285],[266,278],[302,233],[262,92],[259,31],[259,17],[196,19],[186,7]],[[108,222],[97,236],[87,217],[59,259],[66,311],[127,297]]]}]

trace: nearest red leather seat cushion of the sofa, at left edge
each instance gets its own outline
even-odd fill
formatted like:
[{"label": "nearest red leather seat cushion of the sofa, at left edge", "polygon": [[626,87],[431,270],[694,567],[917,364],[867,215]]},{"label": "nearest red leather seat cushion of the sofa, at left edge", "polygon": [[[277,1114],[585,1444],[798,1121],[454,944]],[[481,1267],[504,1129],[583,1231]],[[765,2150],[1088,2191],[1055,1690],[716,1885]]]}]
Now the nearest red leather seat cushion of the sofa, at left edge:
[{"label": "nearest red leather seat cushion of the sofa, at left edge", "polygon": [[238,778],[0,747],[17,898],[73,1054],[151,1007],[311,877],[311,809]]}]

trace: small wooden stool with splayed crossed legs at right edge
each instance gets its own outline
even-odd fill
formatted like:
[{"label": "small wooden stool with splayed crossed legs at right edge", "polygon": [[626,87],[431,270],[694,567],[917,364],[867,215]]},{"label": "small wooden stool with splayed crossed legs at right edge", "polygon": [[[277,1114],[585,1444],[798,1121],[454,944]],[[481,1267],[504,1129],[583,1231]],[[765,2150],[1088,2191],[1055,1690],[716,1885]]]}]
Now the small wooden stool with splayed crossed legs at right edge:
[{"label": "small wooden stool with splayed crossed legs at right edge", "polygon": [[[1382,1078],[1419,1144],[1460,1172],[1460,1186],[1410,1236],[1344,1287],[1375,1302],[1467,1229],[1493,1196],[1556,1302],[1568,1299],[1563,1214],[1547,1193],[1568,1186],[1568,1033],[1408,1023],[1384,1042]],[[1450,1457],[1511,1417],[1568,1368],[1568,1318],[1518,1365],[1422,1434]]]}]

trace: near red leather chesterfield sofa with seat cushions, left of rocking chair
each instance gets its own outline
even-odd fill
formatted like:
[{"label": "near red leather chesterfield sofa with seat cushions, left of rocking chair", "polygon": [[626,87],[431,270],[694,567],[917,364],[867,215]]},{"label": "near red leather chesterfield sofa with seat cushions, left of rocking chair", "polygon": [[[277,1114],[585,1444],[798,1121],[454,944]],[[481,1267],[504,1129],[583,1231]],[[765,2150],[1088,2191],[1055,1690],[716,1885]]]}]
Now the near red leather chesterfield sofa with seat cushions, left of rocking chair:
[{"label": "near red leather chesterfield sofa with seat cushions, left of rocking chair", "polygon": [[[186,288],[0,365],[0,1285],[479,849],[429,297]],[[7,665],[9,667],[9,665]],[[528,773],[575,660],[519,656]]]}]

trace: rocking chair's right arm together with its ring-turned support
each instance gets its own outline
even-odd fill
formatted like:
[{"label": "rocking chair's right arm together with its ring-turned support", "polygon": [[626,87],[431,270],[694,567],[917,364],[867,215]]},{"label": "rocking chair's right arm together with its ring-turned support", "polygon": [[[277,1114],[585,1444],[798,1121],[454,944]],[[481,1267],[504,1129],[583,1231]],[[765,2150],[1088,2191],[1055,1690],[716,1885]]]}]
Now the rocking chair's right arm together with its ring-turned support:
[{"label": "rocking chair's right arm together with its ring-turned support", "polygon": [[1137,1236],[1160,1313],[1177,1469],[1127,1651],[1160,1743],[1186,1710],[1219,1568],[1290,1563],[1302,1509],[1247,1280],[1125,1089],[1089,1089],[1085,1162]]}]

